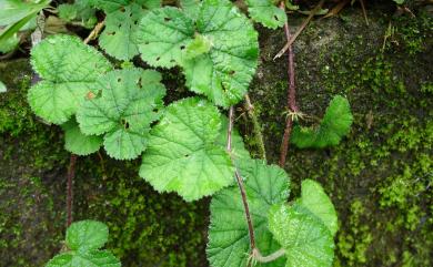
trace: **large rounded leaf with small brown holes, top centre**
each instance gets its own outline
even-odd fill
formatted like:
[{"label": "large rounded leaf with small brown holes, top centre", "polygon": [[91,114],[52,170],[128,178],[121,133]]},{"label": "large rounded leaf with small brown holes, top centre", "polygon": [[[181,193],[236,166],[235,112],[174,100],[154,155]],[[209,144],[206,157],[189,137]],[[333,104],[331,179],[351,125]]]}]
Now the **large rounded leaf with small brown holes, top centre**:
[{"label": "large rounded leaf with small brown holes, top centre", "polygon": [[183,1],[184,11],[165,7],[143,17],[138,31],[141,58],[153,66],[180,65],[190,90],[220,106],[235,104],[256,69],[258,33],[228,0],[204,0],[197,14],[189,3]]}]

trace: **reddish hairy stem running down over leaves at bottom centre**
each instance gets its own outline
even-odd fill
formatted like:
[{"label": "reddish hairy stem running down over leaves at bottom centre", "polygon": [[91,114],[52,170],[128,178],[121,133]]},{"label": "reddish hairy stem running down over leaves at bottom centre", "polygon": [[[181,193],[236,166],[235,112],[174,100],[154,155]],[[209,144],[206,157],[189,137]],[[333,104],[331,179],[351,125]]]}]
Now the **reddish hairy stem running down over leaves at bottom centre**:
[{"label": "reddish hairy stem running down over leaves at bottom centre", "polygon": [[[230,155],[232,155],[232,131],[233,131],[233,121],[234,121],[234,107],[230,106],[229,111],[229,127],[228,127],[228,133],[226,133],[226,151],[229,152]],[[233,157],[232,157],[233,161]],[[251,250],[253,251],[255,249],[255,237],[254,237],[254,226],[253,222],[251,219],[251,214],[250,214],[250,207],[248,205],[246,201],[246,192],[245,192],[245,186],[243,184],[243,179],[241,174],[239,173],[239,170],[235,167],[234,171],[234,176],[236,177],[239,191],[241,192],[242,196],[242,203],[243,203],[243,209],[245,212],[245,218],[246,218],[246,224],[248,224],[248,233],[250,235],[250,247]]]}]

